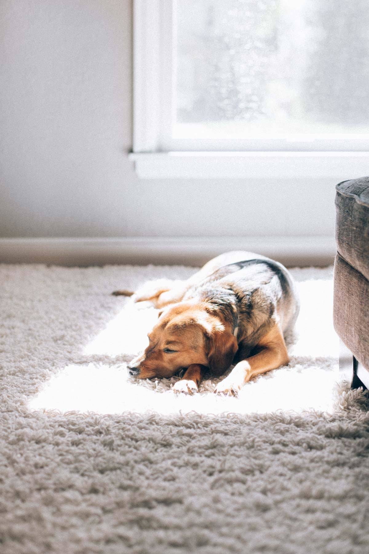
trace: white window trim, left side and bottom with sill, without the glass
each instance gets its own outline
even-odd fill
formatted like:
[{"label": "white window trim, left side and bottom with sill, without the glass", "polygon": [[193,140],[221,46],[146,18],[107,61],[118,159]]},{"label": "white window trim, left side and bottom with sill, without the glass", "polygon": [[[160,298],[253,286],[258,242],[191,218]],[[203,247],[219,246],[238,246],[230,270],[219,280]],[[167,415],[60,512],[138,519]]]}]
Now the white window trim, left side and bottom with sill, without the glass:
[{"label": "white window trim, left side and bottom with sill, without the glass", "polygon": [[[263,142],[169,141],[165,131],[174,109],[171,4],[171,0],[133,2],[133,152],[129,157],[139,177],[344,180],[368,175],[367,136],[297,142],[282,137]],[[214,145],[219,151],[214,151]]]}]

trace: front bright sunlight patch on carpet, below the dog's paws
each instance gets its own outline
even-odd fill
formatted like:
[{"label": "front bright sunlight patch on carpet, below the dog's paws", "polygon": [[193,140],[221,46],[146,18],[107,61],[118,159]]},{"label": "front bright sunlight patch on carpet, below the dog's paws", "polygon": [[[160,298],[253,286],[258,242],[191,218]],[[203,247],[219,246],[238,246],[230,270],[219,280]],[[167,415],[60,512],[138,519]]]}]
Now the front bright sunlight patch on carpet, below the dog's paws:
[{"label": "front bright sunlight patch on carpet, below the dog's paws", "polygon": [[314,367],[306,372],[303,371],[304,363],[299,368],[298,358],[295,362],[296,367],[280,368],[247,383],[238,398],[215,395],[215,379],[204,381],[199,393],[187,396],[171,391],[175,378],[134,382],[127,378],[122,367],[70,365],[50,379],[29,407],[101,414],[144,413],[148,410],[161,414],[180,411],[204,414],[270,413],[277,410],[330,412],[337,381],[337,372],[330,370],[332,360],[326,361],[328,371]]}]

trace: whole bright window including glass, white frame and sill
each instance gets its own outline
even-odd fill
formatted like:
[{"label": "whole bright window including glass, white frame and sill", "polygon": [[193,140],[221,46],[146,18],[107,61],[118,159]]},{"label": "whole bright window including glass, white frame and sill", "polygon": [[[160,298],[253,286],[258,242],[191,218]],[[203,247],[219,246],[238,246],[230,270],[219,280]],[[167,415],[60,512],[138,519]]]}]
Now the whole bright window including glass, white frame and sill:
[{"label": "whole bright window including glass, white frame and sill", "polygon": [[133,157],[153,176],[363,175],[368,82],[366,0],[134,3]]}]

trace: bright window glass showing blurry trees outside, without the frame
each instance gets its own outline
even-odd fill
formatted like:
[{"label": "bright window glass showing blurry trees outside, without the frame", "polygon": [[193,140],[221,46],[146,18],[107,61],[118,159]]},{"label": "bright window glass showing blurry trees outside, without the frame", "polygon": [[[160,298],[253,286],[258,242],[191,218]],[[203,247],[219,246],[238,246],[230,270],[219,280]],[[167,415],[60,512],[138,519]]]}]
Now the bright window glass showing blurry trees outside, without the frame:
[{"label": "bright window glass showing blurry trees outside, without the frame", "polygon": [[367,0],[177,0],[177,136],[369,132]]}]

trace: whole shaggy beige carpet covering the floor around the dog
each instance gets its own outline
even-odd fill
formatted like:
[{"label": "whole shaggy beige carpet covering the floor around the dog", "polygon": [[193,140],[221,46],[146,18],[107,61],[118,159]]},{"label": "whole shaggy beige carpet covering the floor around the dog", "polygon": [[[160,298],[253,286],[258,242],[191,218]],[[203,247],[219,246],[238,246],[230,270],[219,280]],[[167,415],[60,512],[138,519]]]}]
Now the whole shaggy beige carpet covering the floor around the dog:
[{"label": "whole shaggy beige carpet covering the floor around the dog", "polygon": [[362,554],[369,412],[337,364],[332,269],[294,269],[291,361],[238,398],[126,362],[157,313],[113,297],[178,266],[0,266],[2,554]]}]

